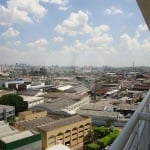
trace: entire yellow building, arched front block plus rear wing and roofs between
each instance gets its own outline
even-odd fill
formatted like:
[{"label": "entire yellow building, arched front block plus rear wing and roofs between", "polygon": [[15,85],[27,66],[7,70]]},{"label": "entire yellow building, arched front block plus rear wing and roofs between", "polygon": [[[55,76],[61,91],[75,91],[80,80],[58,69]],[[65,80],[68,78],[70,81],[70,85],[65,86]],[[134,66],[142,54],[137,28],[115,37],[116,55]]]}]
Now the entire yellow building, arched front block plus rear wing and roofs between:
[{"label": "entire yellow building, arched front block plus rear wing and roofs between", "polygon": [[42,136],[42,149],[62,143],[72,150],[82,150],[83,141],[91,129],[91,118],[80,115],[54,120],[46,111],[19,113],[15,122],[18,130],[36,130]]}]

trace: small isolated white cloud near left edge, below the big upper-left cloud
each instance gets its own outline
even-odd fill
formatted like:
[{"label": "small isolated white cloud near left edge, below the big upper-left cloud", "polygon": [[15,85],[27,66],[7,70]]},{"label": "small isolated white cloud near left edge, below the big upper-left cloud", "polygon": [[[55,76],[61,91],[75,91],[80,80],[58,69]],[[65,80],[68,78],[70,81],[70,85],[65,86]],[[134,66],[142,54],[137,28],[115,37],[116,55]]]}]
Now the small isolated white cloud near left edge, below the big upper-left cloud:
[{"label": "small isolated white cloud near left edge, below the big upper-left cloud", "polygon": [[5,38],[17,37],[19,36],[20,32],[15,30],[14,28],[10,27],[7,31],[3,32],[1,35]]}]

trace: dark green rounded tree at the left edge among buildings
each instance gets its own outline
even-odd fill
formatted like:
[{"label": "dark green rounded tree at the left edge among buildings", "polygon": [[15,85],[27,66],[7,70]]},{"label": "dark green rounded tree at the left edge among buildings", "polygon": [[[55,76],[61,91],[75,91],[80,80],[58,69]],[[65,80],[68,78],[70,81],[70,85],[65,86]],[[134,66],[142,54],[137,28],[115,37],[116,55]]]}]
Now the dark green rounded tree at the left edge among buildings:
[{"label": "dark green rounded tree at the left edge among buildings", "polygon": [[15,114],[27,110],[27,104],[23,101],[23,98],[17,94],[6,94],[0,98],[0,104],[10,105],[15,107]]}]

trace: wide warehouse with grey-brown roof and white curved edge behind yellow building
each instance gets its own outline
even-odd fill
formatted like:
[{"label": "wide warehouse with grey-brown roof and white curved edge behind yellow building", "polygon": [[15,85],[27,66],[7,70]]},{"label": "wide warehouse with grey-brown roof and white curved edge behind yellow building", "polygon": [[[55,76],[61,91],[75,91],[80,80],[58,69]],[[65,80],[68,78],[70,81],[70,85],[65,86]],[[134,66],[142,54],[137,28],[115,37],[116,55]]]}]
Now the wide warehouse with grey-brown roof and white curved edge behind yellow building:
[{"label": "wide warehouse with grey-brown roof and white curved edge behind yellow building", "polygon": [[[48,97],[48,94],[47,94]],[[65,93],[62,97],[53,100],[47,100],[46,103],[34,106],[34,110],[46,110],[55,115],[74,115],[76,111],[85,104],[88,104],[91,98],[88,94]]]}]

